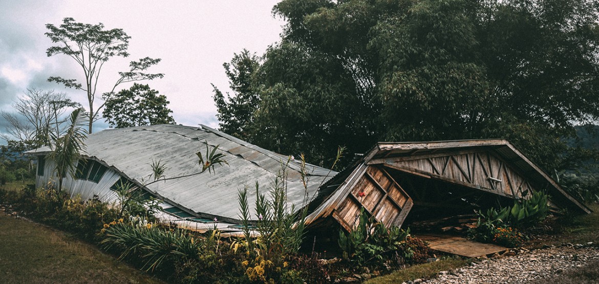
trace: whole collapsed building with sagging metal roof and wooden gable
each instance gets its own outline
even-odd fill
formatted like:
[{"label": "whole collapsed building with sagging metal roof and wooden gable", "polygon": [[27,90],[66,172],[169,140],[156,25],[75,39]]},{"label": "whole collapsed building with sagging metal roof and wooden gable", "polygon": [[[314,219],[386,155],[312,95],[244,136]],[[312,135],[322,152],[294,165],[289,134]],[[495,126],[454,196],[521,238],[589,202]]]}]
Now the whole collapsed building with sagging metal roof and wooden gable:
[{"label": "whole collapsed building with sagging metal roof and wooden gable", "polygon": [[[117,201],[119,184],[135,185],[161,200],[161,218],[187,228],[241,232],[238,192],[247,191],[255,212],[277,176],[286,179],[287,202],[308,206],[308,228],[338,225],[351,230],[364,208],[377,222],[402,226],[410,220],[507,204],[546,191],[550,206],[590,213],[506,140],[377,143],[341,173],[271,152],[208,126],[153,125],[107,129],[89,135],[75,177],[63,182],[72,196]],[[217,147],[228,165],[201,173],[196,152]],[[213,148],[212,148],[213,149]],[[56,180],[48,147],[37,155],[36,186]],[[152,163],[164,177],[152,179]]]}]

